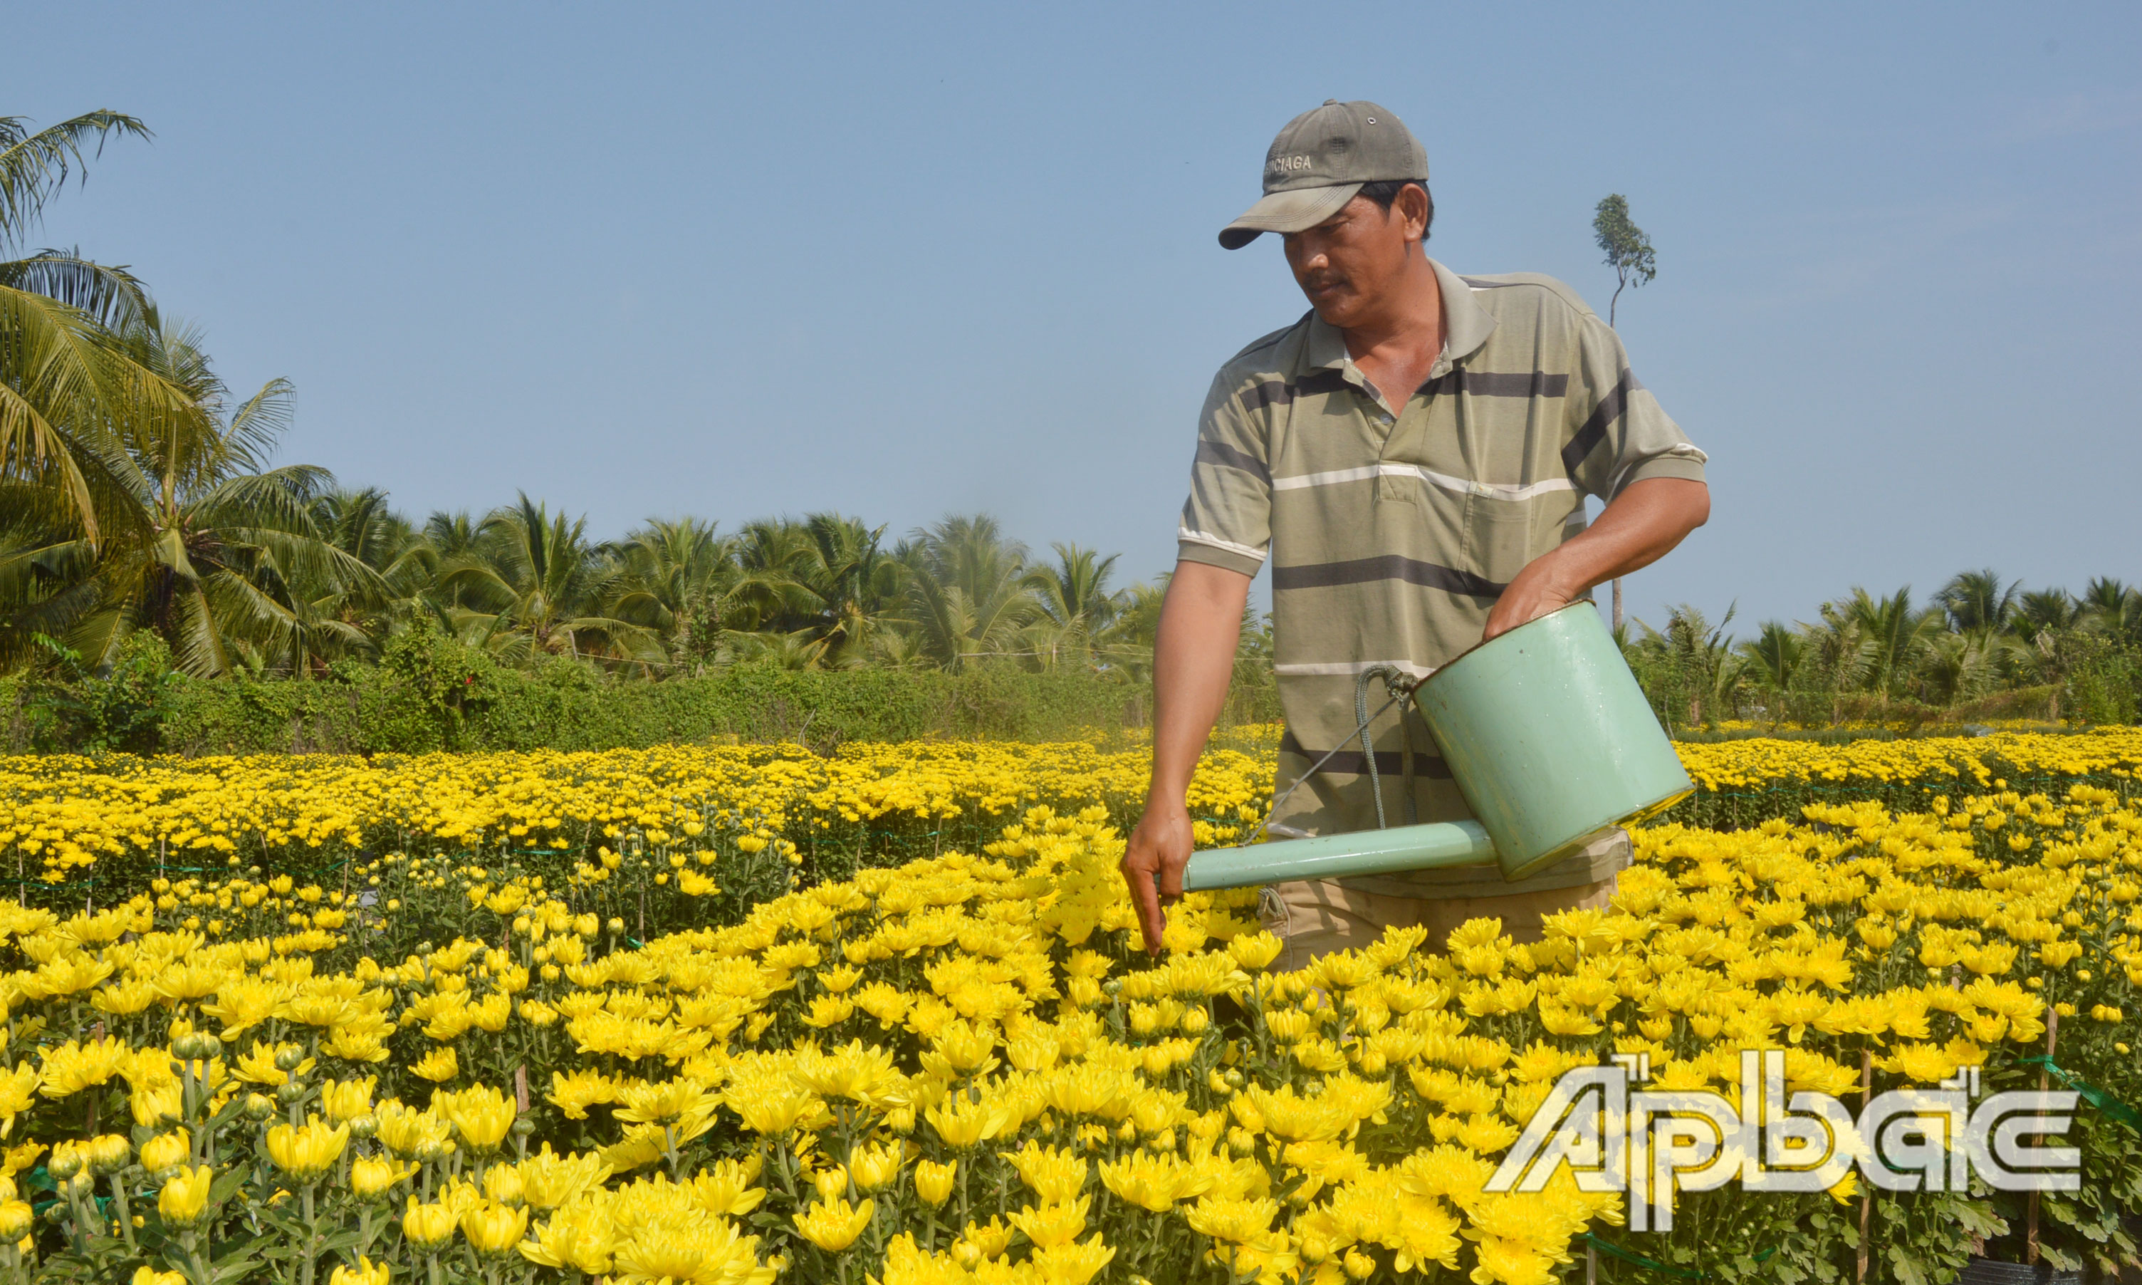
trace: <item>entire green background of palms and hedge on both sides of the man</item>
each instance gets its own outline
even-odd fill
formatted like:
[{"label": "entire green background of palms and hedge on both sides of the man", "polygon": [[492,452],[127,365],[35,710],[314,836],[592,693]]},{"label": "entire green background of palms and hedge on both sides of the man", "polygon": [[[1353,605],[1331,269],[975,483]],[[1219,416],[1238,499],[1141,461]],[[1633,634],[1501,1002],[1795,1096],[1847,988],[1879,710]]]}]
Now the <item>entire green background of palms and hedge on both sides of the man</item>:
[{"label": "entire green background of palms and hedge on both sides of the man", "polygon": [[[13,720],[0,741],[392,747],[403,732],[379,726],[418,724],[377,711],[403,709],[420,687],[428,730],[407,732],[411,743],[570,741],[570,720],[623,728],[640,715],[598,717],[559,692],[718,683],[735,670],[1080,677],[1101,694],[1035,696],[1056,711],[1047,717],[1005,713],[1024,696],[1002,683],[975,687],[987,698],[945,687],[942,709],[966,709],[945,713],[945,728],[1142,722],[1163,585],[1118,587],[1116,555],[1075,544],[1035,559],[987,516],[947,516],[891,542],[883,525],[831,512],[733,531],[666,518],[595,540],[583,518],[527,495],[416,523],[383,490],[272,465],[287,381],[227,388],[199,330],[167,317],[129,270],[28,248],[45,203],[107,139],[146,135],[114,111],[34,133],[0,118],[0,681]],[[1641,285],[1649,244],[1639,248]],[[2073,598],[1966,572],[1924,606],[1904,589],[1855,589],[1816,621],[1767,621],[1746,640],[1726,634],[1731,617],[1711,628],[1681,606],[1624,640],[1671,726],[2136,717],[2142,595],[2110,578]],[[446,670],[458,692],[437,681]],[[266,696],[321,679],[351,698]],[[362,692],[381,683],[392,692],[368,707]],[[246,692],[238,705],[233,690]],[[649,728],[741,735],[733,696],[745,690],[763,687],[677,698]],[[191,702],[176,739],[156,730],[174,700]],[[270,707],[281,713],[261,726],[229,713]],[[362,730],[321,713],[360,707],[386,722],[360,717]],[[491,722],[471,724],[476,707]],[[1247,617],[1234,715],[1274,713],[1270,628]],[[900,728],[927,724],[904,717]],[[649,728],[604,735],[625,743]]]}]

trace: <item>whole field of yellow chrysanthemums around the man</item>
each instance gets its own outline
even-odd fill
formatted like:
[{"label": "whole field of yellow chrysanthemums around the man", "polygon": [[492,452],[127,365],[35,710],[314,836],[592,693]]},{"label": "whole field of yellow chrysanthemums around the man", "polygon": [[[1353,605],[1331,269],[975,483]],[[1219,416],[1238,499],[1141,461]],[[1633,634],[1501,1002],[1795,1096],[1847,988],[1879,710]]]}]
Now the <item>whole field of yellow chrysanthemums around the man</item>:
[{"label": "whole field of yellow chrysanthemums around the man", "polygon": [[[0,1272],[426,1285],[1951,1279],[2131,1259],[2142,735],[1686,745],[1609,912],[1268,970],[1255,893],[1133,949],[1142,754],[861,745],[0,758]],[[1204,842],[1262,814],[1217,750]],[[1487,1176],[1611,1052],[1855,1101],[2050,1073],[2084,1182]],[[1861,1231],[1866,1229],[1866,1231]]]}]

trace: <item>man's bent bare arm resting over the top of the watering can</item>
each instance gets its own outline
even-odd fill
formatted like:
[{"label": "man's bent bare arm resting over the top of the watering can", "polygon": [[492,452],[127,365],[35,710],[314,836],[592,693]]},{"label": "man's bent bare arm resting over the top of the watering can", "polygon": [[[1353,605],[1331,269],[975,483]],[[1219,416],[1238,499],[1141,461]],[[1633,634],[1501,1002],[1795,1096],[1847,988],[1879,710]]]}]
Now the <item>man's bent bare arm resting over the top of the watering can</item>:
[{"label": "man's bent bare arm resting over the top of the watering can", "polygon": [[1592,527],[1544,553],[1510,580],[1487,615],[1482,638],[1568,606],[1594,585],[1626,576],[1666,557],[1711,516],[1711,490],[1688,478],[1643,478],[1621,488]]}]

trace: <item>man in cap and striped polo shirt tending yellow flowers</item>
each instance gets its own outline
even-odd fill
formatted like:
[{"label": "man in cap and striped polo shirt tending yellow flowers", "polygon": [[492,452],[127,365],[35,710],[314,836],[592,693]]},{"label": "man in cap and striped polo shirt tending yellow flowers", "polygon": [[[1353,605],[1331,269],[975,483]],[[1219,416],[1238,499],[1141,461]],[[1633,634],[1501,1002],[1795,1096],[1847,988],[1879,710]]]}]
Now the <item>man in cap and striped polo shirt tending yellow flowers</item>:
[{"label": "man in cap and striped polo shirt tending yellow flowers", "polygon": [[[1621,343],[1559,281],[1459,276],[1427,255],[1427,152],[1375,103],[1296,116],[1264,158],[1264,199],[1219,233],[1281,236],[1309,313],[1251,343],[1206,394],[1180,553],[1155,651],[1152,784],[1122,876],[1146,949],[1191,857],[1185,790],[1227,694],[1251,576],[1272,561],[1277,790],[1354,737],[1356,679],[1427,677],[1457,653],[1594,585],[1649,565],[1709,516],[1703,452],[1628,371]],[[1585,497],[1602,510],[1585,520]],[[1382,705],[1384,685],[1373,690]],[[1412,771],[1401,762],[1412,720]],[[1390,825],[1469,816],[1420,713],[1371,728]],[[1401,797],[1412,777],[1412,805]],[[1375,829],[1354,737],[1272,818],[1274,837]],[[1259,917],[1283,968],[1390,925],[1604,906],[1628,835],[1521,882],[1495,867],[1287,882]]]}]

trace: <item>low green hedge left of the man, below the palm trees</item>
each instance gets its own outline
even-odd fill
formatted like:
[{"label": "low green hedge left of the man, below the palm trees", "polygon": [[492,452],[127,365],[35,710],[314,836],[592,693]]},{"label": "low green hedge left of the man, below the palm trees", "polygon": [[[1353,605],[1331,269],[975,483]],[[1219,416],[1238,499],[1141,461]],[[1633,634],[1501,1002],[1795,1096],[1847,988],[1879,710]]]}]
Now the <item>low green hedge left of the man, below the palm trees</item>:
[{"label": "low green hedge left of the man, below the palm trees", "polygon": [[[1277,720],[1266,683],[1240,683],[1230,722]],[[1150,720],[1127,677],[733,666],[692,679],[608,679],[585,664],[506,668],[437,634],[390,642],[377,666],[317,679],[191,679],[152,642],[103,677],[0,679],[0,750],[133,754],[617,750],[677,741],[1120,737]]]}]

